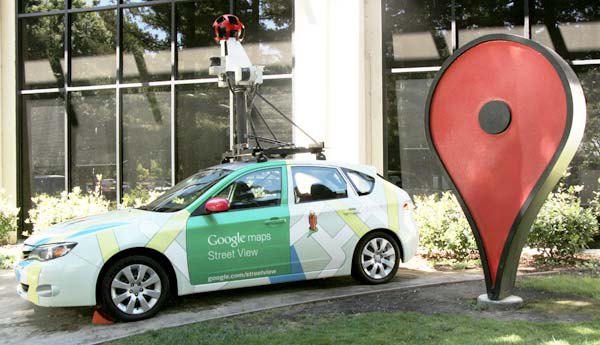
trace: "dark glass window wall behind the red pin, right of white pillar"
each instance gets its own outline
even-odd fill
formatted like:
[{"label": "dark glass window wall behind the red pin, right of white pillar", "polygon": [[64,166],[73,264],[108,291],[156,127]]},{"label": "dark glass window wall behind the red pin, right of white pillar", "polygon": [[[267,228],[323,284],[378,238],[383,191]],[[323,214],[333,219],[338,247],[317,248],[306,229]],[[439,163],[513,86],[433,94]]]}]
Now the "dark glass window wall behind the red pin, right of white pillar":
[{"label": "dark glass window wall behind the red pin, right of white pillar", "polygon": [[[600,3],[384,0],[383,6],[384,164],[388,179],[413,195],[450,189],[425,139],[424,106],[435,73],[453,49],[477,37],[490,33],[530,35],[570,62],[583,86],[588,122],[567,182],[583,185],[582,198],[584,202],[590,200],[599,188],[600,177],[600,29],[596,27]],[[419,37],[416,32],[421,33]],[[430,53],[417,54],[419,49],[409,49],[409,39],[403,37],[406,34],[415,35],[420,49],[429,46]],[[427,43],[431,37],[434,44]],[[415,55],[409,58],[407,54]]]}]

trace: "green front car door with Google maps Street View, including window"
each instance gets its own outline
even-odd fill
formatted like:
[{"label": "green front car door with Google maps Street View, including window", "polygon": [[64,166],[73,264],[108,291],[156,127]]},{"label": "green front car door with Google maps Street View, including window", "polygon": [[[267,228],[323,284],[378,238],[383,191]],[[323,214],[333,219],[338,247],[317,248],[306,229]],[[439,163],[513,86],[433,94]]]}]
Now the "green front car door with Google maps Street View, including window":
[{"label": "green front car door with Google maps Street View, including window", "polygon": [[291,273],[286,180],[281,166],[248,172],[213,195],[227,198],[230,210],[190,217],[193,285]]}]

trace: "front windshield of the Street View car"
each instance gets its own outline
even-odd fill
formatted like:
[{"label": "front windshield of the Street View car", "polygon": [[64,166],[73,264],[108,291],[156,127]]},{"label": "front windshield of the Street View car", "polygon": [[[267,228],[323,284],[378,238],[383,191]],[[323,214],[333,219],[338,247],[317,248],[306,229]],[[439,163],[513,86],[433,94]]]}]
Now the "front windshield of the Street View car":
[{"label": "front windshield of the Street View car", "polygon": [[202,170],[179,182],[158,199],[139,209],[154,212],[176,212],[182,210],[230,173],[231,170],[227,169],[210,168]]}]

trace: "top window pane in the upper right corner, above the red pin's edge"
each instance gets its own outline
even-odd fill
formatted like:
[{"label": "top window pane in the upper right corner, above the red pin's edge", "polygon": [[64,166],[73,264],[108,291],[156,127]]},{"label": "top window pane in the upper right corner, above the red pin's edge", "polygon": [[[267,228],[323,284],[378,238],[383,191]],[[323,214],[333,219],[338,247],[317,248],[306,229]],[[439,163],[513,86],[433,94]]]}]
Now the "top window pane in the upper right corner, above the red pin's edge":
[{"label": "top window pane in the upper right corner, above the red pin's edge", "polygon": [[600,2],[534,1],[531,38],[565,59],[600,57]]}]

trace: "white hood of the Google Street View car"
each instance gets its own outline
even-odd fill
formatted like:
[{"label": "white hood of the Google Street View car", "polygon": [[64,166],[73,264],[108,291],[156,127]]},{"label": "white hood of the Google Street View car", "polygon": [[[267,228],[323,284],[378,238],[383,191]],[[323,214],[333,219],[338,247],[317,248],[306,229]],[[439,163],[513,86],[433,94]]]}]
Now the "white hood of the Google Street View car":
[{"label": "white hood of the Google Street View car", "polygon": [[132,224],[148,212],[129,208],[73,219],[53,225],[29,237],[25,245],[39,246],[46,243],[76,241],[81,236]]}]

